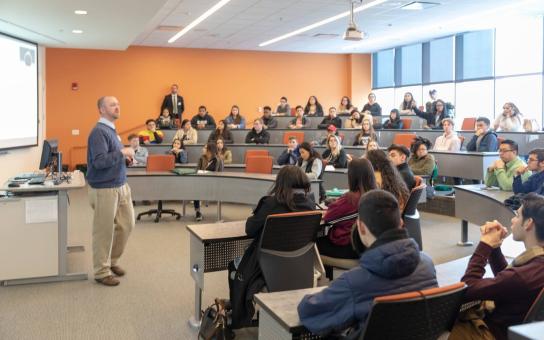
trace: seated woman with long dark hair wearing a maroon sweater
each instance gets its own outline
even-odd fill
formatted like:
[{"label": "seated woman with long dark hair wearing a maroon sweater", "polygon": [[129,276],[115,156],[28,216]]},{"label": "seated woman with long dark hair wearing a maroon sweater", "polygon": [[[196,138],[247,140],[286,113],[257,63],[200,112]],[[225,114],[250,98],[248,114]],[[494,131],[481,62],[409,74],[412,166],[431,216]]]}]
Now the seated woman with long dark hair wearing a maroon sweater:
[{"label": "seated woman with long dark hair wearing a maroon sweater", "polygon": [[[351,229],[357,219],[361,195],[377,189],[374,169],[367,159],[355,159],[349,163],[348,187],[349,191],[329,204],[323,216],[323,221],[332,224],[332,228],[326,236],[317,239],[317,248],[321,255],[345,259],[359,258],[351,244]],[[332,223],[333,221],[336,222]]]}]

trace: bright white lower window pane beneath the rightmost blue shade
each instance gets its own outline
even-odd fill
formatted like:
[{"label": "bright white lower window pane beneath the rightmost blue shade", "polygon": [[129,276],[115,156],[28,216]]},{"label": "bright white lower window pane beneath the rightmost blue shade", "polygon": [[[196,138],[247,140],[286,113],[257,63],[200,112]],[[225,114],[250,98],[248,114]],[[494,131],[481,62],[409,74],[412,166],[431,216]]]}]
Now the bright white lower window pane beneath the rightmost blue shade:
[{"label": "bright white lower window pane beneath the rightmost blue shade", "polygon": [[487,117],[493,120],[493,80],[466,81],[455,84],[455,125],[463,118]]}]

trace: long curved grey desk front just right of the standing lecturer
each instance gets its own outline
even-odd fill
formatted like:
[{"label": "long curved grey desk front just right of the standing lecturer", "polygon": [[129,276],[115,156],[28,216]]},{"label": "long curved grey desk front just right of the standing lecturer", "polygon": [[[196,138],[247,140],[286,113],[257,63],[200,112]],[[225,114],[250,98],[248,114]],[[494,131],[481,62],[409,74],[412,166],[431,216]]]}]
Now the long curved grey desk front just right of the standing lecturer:
[{"label": "long curved grey desk front just right of the standing lecturer", "polygon": [[[217,201],[218,220],[221,220],[221,202],[256,205],[276,181],[276,175],[241,172],[176,175],[168,171],[131,170],[127,176],[135,201]],[[318,198],[319,181],[313,181],[311,186],[311,192]]]}]

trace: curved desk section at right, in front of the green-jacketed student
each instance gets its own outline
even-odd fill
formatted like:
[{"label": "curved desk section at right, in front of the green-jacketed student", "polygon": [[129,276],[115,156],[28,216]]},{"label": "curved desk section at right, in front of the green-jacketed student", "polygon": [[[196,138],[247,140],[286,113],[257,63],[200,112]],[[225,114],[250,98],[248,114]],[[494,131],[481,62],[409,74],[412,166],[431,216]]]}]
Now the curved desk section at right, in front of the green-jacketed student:
[{"label": "curved desk section at right, in front of the green-jacketed student", "polygon": [[511,191],[487,190],[480,184],[456,185],[455,217],[461,219],[461,241],[458,245],[473,244],[468,241],[468,222],[480,226],[486,221],[497,220],[510,228],[514,212],[503,202],[513,194]]}]

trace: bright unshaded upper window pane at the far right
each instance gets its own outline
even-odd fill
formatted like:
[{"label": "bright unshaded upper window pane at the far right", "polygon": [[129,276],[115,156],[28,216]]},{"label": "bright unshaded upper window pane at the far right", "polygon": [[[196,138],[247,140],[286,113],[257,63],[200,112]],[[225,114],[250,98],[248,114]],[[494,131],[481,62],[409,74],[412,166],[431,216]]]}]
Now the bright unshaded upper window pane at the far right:
[{"label": "bright unshaded upper window pane at the far right", "polygon": [[498,26],[496,44],[497,76],[542,71],[542,17],[512,19]]}]

